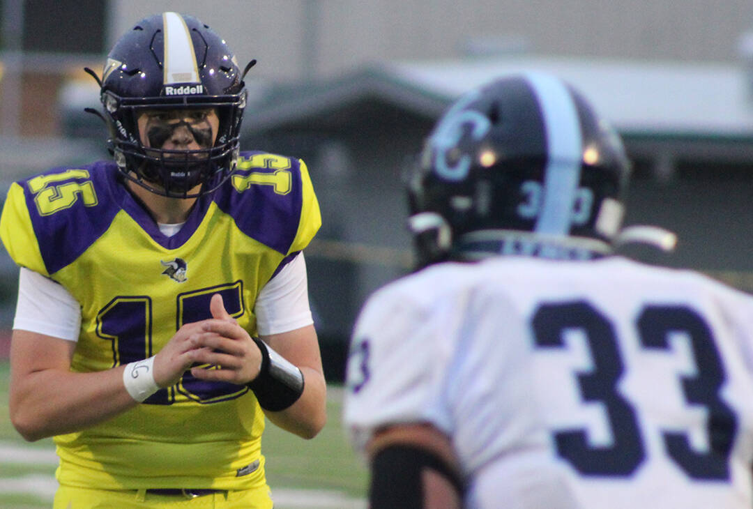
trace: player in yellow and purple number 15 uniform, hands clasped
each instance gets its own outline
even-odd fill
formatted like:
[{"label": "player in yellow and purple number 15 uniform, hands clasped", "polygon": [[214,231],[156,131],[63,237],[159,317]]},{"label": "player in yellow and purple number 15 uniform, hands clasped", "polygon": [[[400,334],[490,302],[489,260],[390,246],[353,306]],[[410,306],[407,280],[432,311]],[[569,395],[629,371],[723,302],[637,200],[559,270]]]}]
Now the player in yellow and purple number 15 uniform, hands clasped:
[{"label": "player in yellow and purple number 15 uniform, hands clasped", "polygon": [[98,78],[114,161],[8,192],[11,420],[54,437],[56,508],[272,507],[264,416],[325,424],[319,205],[303,161],[239,151],[249,67],[194,17],[142,20]]}]

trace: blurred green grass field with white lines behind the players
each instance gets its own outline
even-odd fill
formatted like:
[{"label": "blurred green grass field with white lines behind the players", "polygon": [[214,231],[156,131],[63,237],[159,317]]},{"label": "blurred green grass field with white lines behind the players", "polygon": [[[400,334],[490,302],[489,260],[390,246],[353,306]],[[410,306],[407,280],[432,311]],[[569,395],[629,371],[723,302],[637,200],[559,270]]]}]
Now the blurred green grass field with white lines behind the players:
[{"label": "blurred green grass field with white lines behind the players", "polygon": [[[51,439],[28,443],[8,417],[8,361],[0,361],[0,509],[51,507],[55,486]],[[343,389],[328,388],[328,422],[303,440],[267,422],[262,450],[276,509],[355,509],[363,501],[367,471],[343,430]]]}]

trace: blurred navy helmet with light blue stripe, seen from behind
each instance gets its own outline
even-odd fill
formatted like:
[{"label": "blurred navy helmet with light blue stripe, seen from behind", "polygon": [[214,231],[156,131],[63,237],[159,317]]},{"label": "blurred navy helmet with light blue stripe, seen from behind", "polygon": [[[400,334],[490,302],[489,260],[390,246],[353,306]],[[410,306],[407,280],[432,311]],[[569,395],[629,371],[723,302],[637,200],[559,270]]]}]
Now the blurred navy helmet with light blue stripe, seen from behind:
[{"label": "blurred navy helmet with light blue stripe, seen from behind", "polygon": [[408,175],[419,266],[606,254],[630,167],[617,133],[559,78],[514,75],[472,90],[438,120]]}]

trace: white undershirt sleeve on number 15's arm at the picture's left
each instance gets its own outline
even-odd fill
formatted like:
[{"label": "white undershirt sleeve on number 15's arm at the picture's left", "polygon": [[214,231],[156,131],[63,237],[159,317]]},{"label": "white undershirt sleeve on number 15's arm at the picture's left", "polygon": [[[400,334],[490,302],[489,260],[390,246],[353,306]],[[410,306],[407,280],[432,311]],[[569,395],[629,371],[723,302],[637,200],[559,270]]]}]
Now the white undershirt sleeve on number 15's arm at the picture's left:
[{"label": "white undershirt sleeve on number 15's arm at the picture's left", "polygon": [[59,283],[21,267],[13,328],[78,341],[81,306]]}]

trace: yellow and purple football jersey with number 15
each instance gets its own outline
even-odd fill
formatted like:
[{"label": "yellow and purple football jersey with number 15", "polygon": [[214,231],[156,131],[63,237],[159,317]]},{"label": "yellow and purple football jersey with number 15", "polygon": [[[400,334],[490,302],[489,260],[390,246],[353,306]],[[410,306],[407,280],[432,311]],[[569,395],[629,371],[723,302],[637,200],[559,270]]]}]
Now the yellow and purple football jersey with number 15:
[{"label": "yellow and purple football jersey with number 15", "polygon": [[[227,311],[256,334],[261,288],[321,224],[301,160],[243,152],[222,187],[197,199],[174,236],[123,186],[111,162],[12,184],[0,219],[11,258],[81,305],[71,369],[106,370],[159,352],[184,323]],[[264,414],[245,386],[190,372],[145,404],[55,437],[61,484],[98,489],[249,489],[264,480]]]}]

